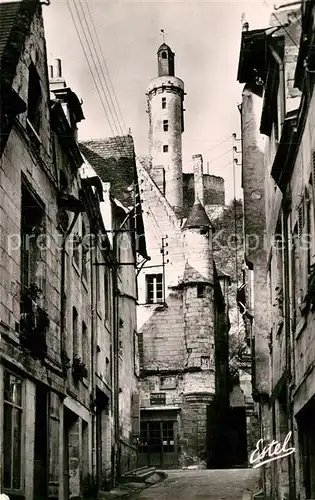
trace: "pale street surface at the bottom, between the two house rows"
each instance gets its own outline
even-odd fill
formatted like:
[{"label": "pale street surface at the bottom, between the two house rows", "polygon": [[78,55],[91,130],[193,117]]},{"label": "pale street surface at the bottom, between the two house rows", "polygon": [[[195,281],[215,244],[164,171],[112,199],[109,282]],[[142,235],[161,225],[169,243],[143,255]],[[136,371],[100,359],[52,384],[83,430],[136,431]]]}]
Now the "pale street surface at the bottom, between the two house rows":
[{"label": "pale street surface at the bottom, between the two house rows", "polygon": [[143,490],[139,500],[249,500],[248,491],[258,482],[259,471],[181,470],[167,471],[167,479]]}]

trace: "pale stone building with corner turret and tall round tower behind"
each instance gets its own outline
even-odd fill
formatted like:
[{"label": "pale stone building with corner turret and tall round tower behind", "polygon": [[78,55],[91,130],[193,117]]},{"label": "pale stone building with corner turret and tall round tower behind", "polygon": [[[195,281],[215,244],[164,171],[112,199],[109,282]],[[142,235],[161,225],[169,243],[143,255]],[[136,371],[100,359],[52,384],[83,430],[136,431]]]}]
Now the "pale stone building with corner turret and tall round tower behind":
[{"label": "pale stone building with corner turret and tall round tower behind", "polygon": [[213,465],[216,418],[229,407],[229,277],[215,267],[211,223],[224,208],[224,180],[203,173],[200,154],[193,174],[183,174],[184,83],[170,47],[157,58],[147,94],[150,157],[137,163],[150,256],[138,276],[139,464]]}]

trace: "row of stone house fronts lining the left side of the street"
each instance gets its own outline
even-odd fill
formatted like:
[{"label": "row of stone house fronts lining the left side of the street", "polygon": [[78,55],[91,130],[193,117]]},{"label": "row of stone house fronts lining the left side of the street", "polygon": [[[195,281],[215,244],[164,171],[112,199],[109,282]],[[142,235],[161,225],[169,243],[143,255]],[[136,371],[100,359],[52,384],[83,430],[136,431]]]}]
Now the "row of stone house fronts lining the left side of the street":
[{"label": "row of stone house fronts lining the left side of the street", "polygon": [[16,500],[95,498],[137,463],[145,240],[140,208],[82,156],[41,9],[0,5],[0,484]]}]

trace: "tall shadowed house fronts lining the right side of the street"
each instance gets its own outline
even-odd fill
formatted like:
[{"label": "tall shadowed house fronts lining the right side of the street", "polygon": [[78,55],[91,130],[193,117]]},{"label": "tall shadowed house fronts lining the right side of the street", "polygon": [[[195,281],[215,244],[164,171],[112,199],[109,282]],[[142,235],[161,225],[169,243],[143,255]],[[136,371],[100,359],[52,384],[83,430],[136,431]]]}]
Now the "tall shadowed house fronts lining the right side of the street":
[{"label": "tall shadowed house fronts lining the right side of the street", "polygon": [[248,249],[246,286],[260,437],[283,442],[290,433],[295,448],[262,468],[272,499],[315,495],[314,15],[306,1],[265,30],[245,27],[238,74],[245,231],[260,243]]}]

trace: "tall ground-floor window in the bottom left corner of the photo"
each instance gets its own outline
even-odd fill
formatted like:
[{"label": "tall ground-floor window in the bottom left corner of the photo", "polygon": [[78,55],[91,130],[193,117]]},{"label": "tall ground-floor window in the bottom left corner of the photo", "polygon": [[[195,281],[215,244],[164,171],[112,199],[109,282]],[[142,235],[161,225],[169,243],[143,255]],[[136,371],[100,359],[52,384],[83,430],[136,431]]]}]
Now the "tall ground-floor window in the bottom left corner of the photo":
[{"label": "tall ground-floor window in the bottom left corner of the photo", "polygon": [[23,381],[6,370],[3,375],[3,487],[21,490]]}]

